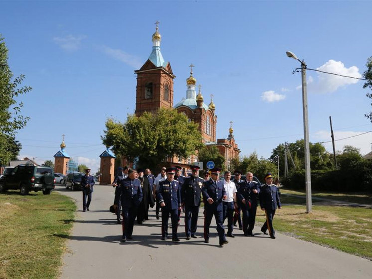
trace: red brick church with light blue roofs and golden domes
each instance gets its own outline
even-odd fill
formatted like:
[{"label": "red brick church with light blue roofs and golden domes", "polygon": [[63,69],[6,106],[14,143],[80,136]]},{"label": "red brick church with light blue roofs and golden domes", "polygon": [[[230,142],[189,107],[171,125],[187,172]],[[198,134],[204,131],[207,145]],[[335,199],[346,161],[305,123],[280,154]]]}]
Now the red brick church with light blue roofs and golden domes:
[{"label": "red brick church with light blue roofs and golden domes", "polygon": [[[156,22],[156,24],[158,23]],[[194,65],[192,64],[190,65],[190,76],[186,79],[186,98],[182,98],[176,105],[173,105],[173,80],[176,76],[172,72],[170,62],[164,60],[160,51],[161,35],[158,25],[152,36],[152,42],[153,48],[149,59],[141,69],[135,71],[137,74],[135,115],[140,116],[145,111],[156,111],[159,108],[174,108],[179,113],[184,113],[188,117],[188,121],[199,124],[203,143],[209,146],[215,145],[219,149],[221,155],[226,159],[225,168],[228,169],[231,159],[238,157],[240,153],[240,149],[235,143],[232,126],[227,139],[216,139],[216,106],[213,99],[209,105],[204,103],[200,85],[198,86],[198,94],[196,94],[196,78],[193,76]],[[198,159],[195,154],[188,158],[168,158],[167,161],[170,165],[180,165],[187,169],[187,165],[197,162]],[[124,165],[126,162],[122,163]]]}]

